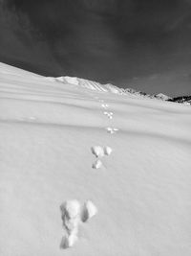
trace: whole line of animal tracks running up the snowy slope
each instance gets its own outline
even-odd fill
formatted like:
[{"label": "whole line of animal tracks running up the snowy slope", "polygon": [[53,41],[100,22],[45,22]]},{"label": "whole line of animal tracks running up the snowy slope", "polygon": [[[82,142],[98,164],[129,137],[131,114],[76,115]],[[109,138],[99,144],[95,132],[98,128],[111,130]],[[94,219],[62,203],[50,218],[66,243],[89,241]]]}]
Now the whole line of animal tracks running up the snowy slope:
[{"label": "whole line of animal tracks running up the snowy slope", "polygon": [[[101,107],[104,108],[103,114],[109,119],[114,118],[114,113],[109,111],[109,105],[105,104],[103,100],[95,97],[96,101],[101,103]],[[118,128],[107,127],[106,131],[110,134],[114,134],[118,131]],[[92,153],[95,155],[96,160],[92,164],[93,169],[99,169],[103,166],[101,159],[104,156],[109,156],[113,149],[109,146],[94,146],[91,148]],[[61,240],[60,248],[66,249],[73,247],[78,240],[79,225],[89,221],[97,213],[96,205],[87,200],[82,206],[78,200],[67,200],[60,206],[61,218],[64,228],[64,236]]]}]

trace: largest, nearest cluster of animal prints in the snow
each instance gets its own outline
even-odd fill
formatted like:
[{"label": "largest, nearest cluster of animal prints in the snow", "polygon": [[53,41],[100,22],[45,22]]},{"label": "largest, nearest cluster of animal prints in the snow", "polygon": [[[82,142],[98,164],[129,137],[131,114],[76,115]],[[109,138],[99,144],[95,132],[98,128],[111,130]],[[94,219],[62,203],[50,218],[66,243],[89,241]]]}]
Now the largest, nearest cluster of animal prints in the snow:
[{"label": "largest, nearest cluster of animal prints in the snow", "polygon": [[78,240],[78,227],[80,221],[86,222],[96,215],[96,205],[87,200],[81,207],[78,200],[67,200],[60,206],[61,217],[65,229],[65,235],[61,240],[60,247],[63,249],[72,247]]}]

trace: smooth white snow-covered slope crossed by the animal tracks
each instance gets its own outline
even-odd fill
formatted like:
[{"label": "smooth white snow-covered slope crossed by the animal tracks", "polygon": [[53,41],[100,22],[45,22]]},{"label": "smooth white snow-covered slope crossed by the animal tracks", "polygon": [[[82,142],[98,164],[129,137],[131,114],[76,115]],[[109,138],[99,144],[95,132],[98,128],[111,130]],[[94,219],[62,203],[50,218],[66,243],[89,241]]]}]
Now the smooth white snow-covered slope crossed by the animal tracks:
[{"label": "smooth white snow-covered slope crossed by the animal tracks", "polygon": [[0,255],[191,255],[190,106],[74,82],[0,63]]}]

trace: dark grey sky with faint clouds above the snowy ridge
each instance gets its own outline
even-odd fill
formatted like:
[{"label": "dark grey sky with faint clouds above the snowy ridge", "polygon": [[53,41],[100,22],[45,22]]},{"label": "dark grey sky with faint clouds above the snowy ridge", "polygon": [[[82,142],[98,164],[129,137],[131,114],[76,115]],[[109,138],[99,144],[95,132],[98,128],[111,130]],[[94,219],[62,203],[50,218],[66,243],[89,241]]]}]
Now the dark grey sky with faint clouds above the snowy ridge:
[{"label": "dark grey sky with faint clouds above the snowy ridge", "polygon": [[191,95],[191,0],[0,0],[0,61]]}]

